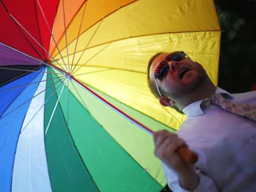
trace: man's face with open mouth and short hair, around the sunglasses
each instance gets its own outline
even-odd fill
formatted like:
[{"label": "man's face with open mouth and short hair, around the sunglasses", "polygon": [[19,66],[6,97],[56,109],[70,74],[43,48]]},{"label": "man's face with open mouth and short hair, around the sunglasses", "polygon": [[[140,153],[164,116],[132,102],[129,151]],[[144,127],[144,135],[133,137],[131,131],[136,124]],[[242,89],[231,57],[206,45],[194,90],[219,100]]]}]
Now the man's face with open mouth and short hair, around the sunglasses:
[{"label": "man's face with open mouth and short hair, around the sunglasses", "polygon": [[[152,62],[149,74],[152,83],[154,83],[156,68],[162,61],[166,60],[169,54],[160,54]],[[170,96],[172,99],[175,99],[173,97],[184,97],[186,94],[195,91],[207,78],[204,68],[188,58],[180,61],[168,61],[167,63],[169,70],[166,75],[161,80],[156,79],[157,86],[167,94],[164,96]]]}]

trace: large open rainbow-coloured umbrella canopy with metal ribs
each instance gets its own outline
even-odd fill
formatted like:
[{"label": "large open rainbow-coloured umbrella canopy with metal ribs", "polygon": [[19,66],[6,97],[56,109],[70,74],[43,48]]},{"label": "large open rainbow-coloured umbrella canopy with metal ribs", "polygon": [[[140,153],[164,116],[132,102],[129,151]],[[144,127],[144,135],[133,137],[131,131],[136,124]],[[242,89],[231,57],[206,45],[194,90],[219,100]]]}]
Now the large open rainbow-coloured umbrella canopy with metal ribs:
[{"label": "large open rainbow-coloured umbrella canopy with metal ribs", "polygon": [[185,117],[147,86],[185,51],[218,81],[211,0],[0,1],[1,191],[161,191],[150,132]]}]

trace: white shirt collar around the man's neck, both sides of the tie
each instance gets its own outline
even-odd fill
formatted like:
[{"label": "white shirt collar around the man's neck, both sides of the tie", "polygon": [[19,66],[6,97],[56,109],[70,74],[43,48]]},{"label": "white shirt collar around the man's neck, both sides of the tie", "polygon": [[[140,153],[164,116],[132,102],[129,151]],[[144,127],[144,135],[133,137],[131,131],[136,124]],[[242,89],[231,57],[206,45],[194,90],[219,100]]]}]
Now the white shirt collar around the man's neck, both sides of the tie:
[{"label": "white shirt collar around the man's neck, both sides of the tie", "polygon": [[[232,96],[227,91],[217,87],[215,93],[226,93],[230,99],[234,99],[234,96]],[[182,109],[183,113],[185,113],[187,116],[198,116],[198,115],[204,115],[204,111],[201,109],[200,105],[203,100],[197,100],[196,102],[193,102]]]}]

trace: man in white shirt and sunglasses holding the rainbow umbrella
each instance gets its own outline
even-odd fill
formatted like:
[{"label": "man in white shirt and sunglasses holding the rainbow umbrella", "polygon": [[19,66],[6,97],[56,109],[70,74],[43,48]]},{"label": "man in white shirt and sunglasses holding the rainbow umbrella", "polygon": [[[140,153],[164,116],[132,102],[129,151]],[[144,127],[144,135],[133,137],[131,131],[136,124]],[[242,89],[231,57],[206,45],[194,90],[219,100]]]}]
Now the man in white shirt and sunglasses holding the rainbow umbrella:
[{"label": "man in white shirt and sunglasses holding the rainbow umbrella", "polygon": [[[177,134],[154,133],[155,154],[173,191],[256,191],[255,121],[207,102],[222,93],[232,102],[255,105],[256,92],[230,94],[216,88],[204,68],[180,51],[151,58],[148,86],[163,106],[187,115]],[[198,154],[194,166],[176,153],[182,146]]]}]

